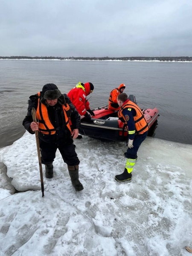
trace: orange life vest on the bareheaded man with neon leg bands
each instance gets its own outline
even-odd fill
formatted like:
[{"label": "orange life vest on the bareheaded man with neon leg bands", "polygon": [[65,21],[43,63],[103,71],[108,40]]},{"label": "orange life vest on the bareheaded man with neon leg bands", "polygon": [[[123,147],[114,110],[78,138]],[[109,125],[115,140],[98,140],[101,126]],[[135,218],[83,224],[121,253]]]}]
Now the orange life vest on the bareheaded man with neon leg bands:
[{"label": "orange life vest on the bareheaded man with neon leg bands", "polygon": [[136,134],[143,134],[144,132],[148,131],[148,122],[145,119],[143,112],[131,100],[128,100],[128,102],[125,103],[125,105],[122,106],[122,108],[118,111],[118,117],[121,120],[121,122],[123,122],[126,125],[126,129],[128,130],[127,120],[125,119],[125,116],[122,114],[122,111],[125,108],[134,108],[134,110],[136,111],[136,116],[134,116]]}]

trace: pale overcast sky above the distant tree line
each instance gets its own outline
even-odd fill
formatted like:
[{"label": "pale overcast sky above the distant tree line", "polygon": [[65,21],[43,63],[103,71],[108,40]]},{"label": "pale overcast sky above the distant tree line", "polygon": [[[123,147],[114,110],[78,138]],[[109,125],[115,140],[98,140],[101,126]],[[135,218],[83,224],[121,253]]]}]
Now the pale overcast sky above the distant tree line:
[{"label": "pale overcast sky above the distant tree line", "polygon": [[192,0],[0,0],[0,56],[192,56]]}]

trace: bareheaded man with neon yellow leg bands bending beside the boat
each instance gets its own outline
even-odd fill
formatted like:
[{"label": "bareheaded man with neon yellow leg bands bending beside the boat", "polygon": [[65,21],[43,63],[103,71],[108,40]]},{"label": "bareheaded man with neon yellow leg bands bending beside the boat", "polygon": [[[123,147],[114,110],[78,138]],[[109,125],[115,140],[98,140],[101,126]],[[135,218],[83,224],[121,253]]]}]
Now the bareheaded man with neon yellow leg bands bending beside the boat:
[{"label": "bareheaded man with neon yellow leg bands bending beside the boat", "polygon": [[148,122],[140,108],[128,99],[126,93],[119,94],[117,102],[121,108],[118,111],[118,117],[128,130],[128,149],[125,152],[127,161],[124,172],[116,175],[115,179],[117,181],[125,181],[131,180],[131,172],[137,160],[137,151],[148,134]]}]

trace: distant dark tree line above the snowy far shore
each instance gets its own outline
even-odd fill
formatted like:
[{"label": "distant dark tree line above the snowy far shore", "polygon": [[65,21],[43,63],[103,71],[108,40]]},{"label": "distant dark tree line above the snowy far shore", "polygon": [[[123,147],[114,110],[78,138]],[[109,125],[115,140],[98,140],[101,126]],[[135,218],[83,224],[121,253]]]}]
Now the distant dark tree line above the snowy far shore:
[{"label": "distant dark tree line above the snowy far shore", "polygon": [[192,61],[192,57],[53,57],[53,56],[0,56],[0,59],[43,59],[43,60],[84,60],[84,61]]}]

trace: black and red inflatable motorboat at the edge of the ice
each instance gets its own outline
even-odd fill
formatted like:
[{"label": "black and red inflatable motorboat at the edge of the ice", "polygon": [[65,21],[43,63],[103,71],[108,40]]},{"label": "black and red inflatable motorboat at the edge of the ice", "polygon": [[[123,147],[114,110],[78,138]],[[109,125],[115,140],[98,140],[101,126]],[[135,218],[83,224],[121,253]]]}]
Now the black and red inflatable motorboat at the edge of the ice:
[{"label": "black and red inflatable motorboat at the edge of the ice", "polygon": [[[134,95],[129,95],[128,99],[137,104]],[[148,136],[154,136],[159,111],[157,108],[141,108],[141,110],[148,122]],[[127,139],[128,132],[118,118],[118,111],[112,111],[107,105],[95,108],[93,112],[95,116],[92,116],[89,122],[85,118],[81,119],[79,134],[101,140],[123,141]]]}]

